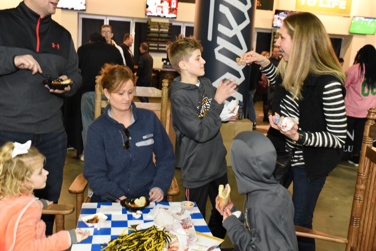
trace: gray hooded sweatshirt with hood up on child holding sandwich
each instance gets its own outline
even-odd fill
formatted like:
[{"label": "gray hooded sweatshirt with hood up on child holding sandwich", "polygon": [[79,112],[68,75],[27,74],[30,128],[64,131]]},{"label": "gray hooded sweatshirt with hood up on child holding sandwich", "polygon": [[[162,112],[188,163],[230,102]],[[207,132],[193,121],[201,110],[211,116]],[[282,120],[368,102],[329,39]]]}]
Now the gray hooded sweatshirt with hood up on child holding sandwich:
[{"label": "gray hooded sweatshirt with hood up on child holding sandwich", "polygon": [[239,193],[247,196],[241,217],[227,217],[223,227],[241,251],[298,250],[290,192],[273,177],[276,156],[262,133],[241,132],[233,139],[231,165]]}]

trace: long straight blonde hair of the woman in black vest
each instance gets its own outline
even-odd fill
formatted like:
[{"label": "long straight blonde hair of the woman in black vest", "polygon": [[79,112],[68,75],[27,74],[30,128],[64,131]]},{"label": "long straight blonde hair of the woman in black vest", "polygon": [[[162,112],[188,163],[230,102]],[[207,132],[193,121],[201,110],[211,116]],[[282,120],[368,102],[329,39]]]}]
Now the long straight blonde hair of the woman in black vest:
[{"label": "long straight blonde hair of the woman in black vest", "polygon": [[291,14],[282,25],[293,40],[288,62],[281,60],[278,69],[282,86],[302,98],[303,82],[309,74],[329,74],[343,84],[345,75],[321,21],[309,12]]}]

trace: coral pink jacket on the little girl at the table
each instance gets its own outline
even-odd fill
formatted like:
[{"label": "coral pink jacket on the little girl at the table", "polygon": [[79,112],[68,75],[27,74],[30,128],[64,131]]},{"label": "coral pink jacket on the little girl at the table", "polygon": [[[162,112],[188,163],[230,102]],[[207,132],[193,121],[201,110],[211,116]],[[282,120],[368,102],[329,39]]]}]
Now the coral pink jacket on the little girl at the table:
[{"label": "coral pink jacket on the little girl at the table", "polygon": [[42,208],[42,202],[33,195],[0,200],[0,251],[58,251],[70,247],[68,231],[45,236]]}]

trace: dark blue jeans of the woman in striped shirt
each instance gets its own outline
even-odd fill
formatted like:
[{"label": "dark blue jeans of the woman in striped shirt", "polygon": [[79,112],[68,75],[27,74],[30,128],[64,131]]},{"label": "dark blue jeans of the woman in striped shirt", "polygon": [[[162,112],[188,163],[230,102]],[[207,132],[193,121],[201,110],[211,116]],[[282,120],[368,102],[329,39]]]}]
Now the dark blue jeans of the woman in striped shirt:
[{"label": "dark blue jeans of the woman in striped shirt", "polygon": [[[325,184],[326,176],[311,183],[307,181],[305,166],[291,167],[290,178],[285,187],[293,181],[294,224],[312,229],[313,212],[318,196]],[[297,237],[299,251],[315,251],[315,239]]]}]

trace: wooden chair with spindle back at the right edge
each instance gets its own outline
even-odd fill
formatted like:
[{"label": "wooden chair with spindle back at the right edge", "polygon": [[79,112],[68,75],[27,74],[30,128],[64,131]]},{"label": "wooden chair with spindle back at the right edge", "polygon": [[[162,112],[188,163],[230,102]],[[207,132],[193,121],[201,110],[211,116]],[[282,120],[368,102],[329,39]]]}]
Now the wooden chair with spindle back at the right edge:
[{"label": "wooden chair with spindle back at the right edge", "polygon": [[296,235],[346,243],[346,251],[376,250],[376,108],[368,109],[347,238],[295,226]]}]

